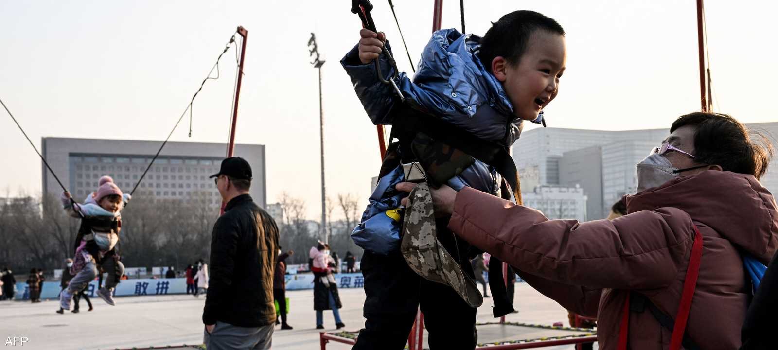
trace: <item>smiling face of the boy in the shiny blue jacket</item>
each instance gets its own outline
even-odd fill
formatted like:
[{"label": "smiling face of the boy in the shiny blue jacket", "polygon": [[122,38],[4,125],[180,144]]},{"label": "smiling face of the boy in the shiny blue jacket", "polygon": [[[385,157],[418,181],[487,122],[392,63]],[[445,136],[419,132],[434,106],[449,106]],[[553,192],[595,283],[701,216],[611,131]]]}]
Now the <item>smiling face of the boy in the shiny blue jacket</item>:
[{"label": "smiling face of the boy in the shiny blue jacket", "polygon": [[559,78],[566,61],[565,37],[545,30],[532,33],[518,65],[503,57],[494,58],[492,72],[503,82],[513,114],[525,121],[537,119],[559,93]]}]

